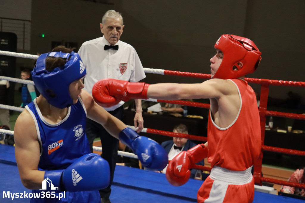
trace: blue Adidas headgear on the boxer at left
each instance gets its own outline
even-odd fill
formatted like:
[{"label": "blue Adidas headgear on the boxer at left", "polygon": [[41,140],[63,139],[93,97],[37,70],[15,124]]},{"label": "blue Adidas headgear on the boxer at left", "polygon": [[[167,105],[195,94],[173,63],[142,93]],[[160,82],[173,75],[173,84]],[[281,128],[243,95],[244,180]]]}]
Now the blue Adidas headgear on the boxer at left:
[{"label": "blue Adidas headgear on the boxer at left", "polygon": [[[51,72],[45,69],[47,57],[66,59],[64,66],[56,67]],[[73,105],[69,86],[74,80],[86,75],[84,63],[77,53],[49,52],[41,54],[31,72],[35,86],[49,104],[59,109]]]}]

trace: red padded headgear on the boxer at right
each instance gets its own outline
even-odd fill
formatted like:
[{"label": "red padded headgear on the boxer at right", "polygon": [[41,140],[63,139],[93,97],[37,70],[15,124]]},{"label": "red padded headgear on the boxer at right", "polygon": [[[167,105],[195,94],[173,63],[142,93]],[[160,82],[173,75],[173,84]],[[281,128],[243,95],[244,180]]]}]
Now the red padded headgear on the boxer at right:
[{"label": "red padded headgear on the boxer at right", "polygon": [[[262,57],[253,41],[233,34],[223,34],[214,46],[224,57],[213,78],[234,79],[253,73]],[[242,62],[240,67],[237,63]],[[234,70],[234,66],[238,70]]]}]

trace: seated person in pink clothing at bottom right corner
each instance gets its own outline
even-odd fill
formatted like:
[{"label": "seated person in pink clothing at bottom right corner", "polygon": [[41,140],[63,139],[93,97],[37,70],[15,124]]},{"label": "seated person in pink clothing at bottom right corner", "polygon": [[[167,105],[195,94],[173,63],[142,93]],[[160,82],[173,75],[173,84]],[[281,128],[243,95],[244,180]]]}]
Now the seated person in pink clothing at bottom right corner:
[{"label": "seated person in pink clothing at bottom right corner", "polygon": [[[292,175],[288,179],[288,182],[304,184],[305,183],[304,169],[305,169],[305,167],[296,169],[296,171],[294,173],[292,173]],[[281,187],[280,191],[288,193],[288,194],[296,194],[296,195],[305,196],[305,190],[302,188],[298,188],[298,187],[290,187],[290,186],[283,185]]]}]

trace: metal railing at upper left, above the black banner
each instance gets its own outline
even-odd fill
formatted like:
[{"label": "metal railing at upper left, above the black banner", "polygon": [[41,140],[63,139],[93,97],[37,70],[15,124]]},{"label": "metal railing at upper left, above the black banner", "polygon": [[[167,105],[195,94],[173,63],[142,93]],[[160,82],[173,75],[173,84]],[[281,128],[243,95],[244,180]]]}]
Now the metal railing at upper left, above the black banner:
[{"label": "metal railing at upper left, above the black banner", "polygon": [[31,21],[0,17],[0,31],[17,35],[17,48],[30,50]]}]

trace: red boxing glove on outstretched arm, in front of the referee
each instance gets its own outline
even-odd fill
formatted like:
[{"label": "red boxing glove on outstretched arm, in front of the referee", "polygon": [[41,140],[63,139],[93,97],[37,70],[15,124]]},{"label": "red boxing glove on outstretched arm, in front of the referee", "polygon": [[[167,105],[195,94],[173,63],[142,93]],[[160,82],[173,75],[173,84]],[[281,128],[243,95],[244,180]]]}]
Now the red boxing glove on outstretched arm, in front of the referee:
[{"label": "red boxing glove on outstretched arm, in front of the referee", "polygon": [[149,84],[131,83],[125,80],[102,79],[94,84],[92,97],[102,107],[116,105],[129,99],[147,99]]}]

